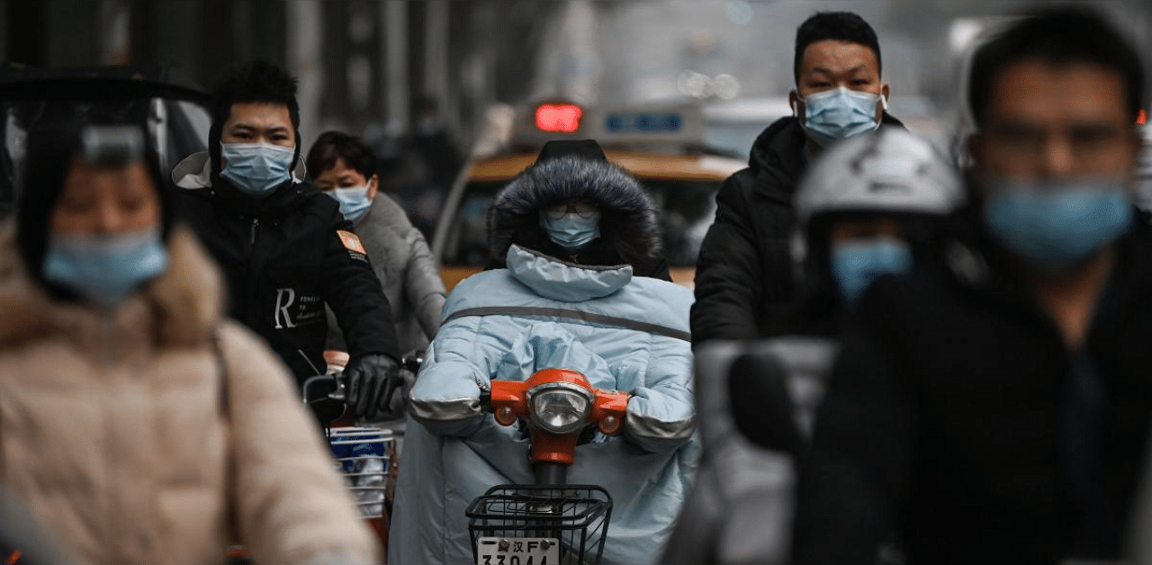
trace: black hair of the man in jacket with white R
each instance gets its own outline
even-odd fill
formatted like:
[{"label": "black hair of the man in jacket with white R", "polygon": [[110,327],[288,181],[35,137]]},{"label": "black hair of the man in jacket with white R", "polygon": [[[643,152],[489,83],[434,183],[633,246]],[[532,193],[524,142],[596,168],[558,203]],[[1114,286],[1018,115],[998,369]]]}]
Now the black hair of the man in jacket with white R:
[{"label": "black hair of the man in jacket with white R", "polygon": [[280,66],[265,60],[228,66],[212,89],[212,128],[209,130],[209,154],[212,170],[220,170],[220,135],[223,123],[237,102],[282,104],[296,130],[296,154],[300,155],[300,104],[296,101],[296,77]]}]

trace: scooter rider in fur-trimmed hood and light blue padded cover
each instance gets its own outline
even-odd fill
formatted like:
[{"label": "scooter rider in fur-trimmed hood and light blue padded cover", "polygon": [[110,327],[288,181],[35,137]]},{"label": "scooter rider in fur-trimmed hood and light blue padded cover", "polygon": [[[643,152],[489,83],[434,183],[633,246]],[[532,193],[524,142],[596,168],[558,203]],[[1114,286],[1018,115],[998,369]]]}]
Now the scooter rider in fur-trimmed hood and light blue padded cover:
[{"label": "scooter rider in fur-trimmed hood and light blue padded cover", "polygon": [[488,244],[505,268],[461,282],[409,398],[389,563],[468,563],[464,510],[490,487],[532,483],[529,438],[484,412],[493,380],[583,373],[629,394],[622,433],[586,433],[569,483],[613,499],[605,563],[654,563],[698,458],[690,290],[638,276],[660,265],[653,203],[594,142],[552,142],[497,194]]}]

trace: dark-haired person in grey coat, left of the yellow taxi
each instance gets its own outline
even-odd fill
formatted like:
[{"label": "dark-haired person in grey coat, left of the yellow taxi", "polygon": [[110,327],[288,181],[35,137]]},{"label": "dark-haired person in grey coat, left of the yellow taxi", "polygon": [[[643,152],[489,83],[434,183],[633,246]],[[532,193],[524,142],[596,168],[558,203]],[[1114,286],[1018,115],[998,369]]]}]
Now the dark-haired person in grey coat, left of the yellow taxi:
[{"label": "dark-haired person in grey coat, left of the yellow taxi", "polygon": [[[305,162],[316,188],[340,203],[340,213],[356,228],[392,306],[400,351],[423,350],[440,327],[447,291],[424,235],[395,200],[380,194],[372,148],[347,133],[326,131]],[[331,310],[328,328],[328,349],[343,350]]]}]

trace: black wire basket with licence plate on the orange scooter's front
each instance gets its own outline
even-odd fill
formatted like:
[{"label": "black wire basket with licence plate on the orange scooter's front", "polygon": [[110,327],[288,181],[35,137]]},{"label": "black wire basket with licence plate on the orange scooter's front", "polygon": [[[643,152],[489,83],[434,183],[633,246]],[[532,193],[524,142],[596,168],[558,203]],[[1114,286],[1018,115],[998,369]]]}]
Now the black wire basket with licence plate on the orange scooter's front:
[{"label": "black wire basket with licence plate on the orange scooter's front", "polygon": [[594,484],[501,484],[465,511],[476,563],[600,563],[612,497]]}]

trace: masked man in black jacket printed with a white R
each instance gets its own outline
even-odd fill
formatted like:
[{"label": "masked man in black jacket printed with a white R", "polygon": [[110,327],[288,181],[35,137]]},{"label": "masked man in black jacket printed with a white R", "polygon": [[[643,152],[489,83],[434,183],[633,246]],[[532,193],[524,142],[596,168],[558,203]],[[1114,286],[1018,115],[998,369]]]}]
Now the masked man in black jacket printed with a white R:
[{"label": "masked man in black jacket printed with a white R", "polygon": [[361,419],[397,415],[388,300],[351,222],[303,178],[296,79],[265,61],[236,63],[212,96],[209,151],[172,178],[189,189],[181,213],[223,270],[229,314],[302,385],[325,373],[327,304],[348,344],[348,405]]}]

